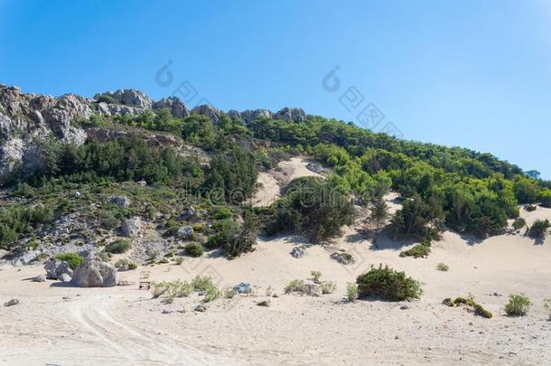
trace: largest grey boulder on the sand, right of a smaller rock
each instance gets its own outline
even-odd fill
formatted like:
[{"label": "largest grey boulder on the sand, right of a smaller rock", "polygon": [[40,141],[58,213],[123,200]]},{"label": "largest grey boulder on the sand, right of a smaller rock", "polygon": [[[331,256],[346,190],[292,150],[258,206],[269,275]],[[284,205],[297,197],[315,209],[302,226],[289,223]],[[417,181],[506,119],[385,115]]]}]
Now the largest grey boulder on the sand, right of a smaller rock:
[{"label": "largest grey boulder on the sand, right of a smaller rock", "polygon": [[117,286],[117,268],[90,256],[75,269],[71,283],[79,287]]}]

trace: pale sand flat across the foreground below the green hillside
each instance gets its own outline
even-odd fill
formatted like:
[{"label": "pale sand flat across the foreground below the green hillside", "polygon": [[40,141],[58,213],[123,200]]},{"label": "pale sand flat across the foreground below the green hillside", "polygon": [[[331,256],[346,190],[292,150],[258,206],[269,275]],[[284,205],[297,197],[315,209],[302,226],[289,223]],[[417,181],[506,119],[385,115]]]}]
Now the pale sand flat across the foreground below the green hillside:
[{"label": "pale sand flat across the foreground below the green hillside", "polygon": [[[551,219],[551,210],[541,208],[522,214],[529,220]],[[0,271],[0,302],[18,298],[21,305],[0,310],[0,364],[551,364],[551,322],[542,306],[551,296],[549,238],[535,245],[532,239],[503,235],[469,244],[446,232],[429,258],[414,259],[398,257],[411,245],[383,237],[376,249],[355,228],[346,228],[333,245],[313,246],[304,258],[292,258],[293,246],[303,242],[296,237],[260,239],[257,250],[242,258],[186,258],[181,266],[121,274],[134,281],[142,271],[157,281],[201,274],[212,276],[220,287],[242,281],[254,286],[253,296],[220,299],[207,305],[205,313],[192,311],[201,301],[197,296],[163,305],[137,286],[33,283],[26,278],[43,273],[41,266],[5,268]],[[350,252],[356,264],[345,267],[329,258],[336,248]],[[448,264],[449,272],[437,271],[439,262]],[[342,301],[346,283],[378,263],[418,278],[425,291],[422,299]],[[309,278],[313,269],[338,284],[334,294],[282,295],[286,283]],[[279,297],[271,298],[270,307],[257,306],[268,298],[268,286]],[[533,301],[528,316],[504,315],[507,296],[516,292]],[[445,297],[469,293],[494,314],[492,319],[441,304]],[[401,309],[405,304],[409,308]]]}]

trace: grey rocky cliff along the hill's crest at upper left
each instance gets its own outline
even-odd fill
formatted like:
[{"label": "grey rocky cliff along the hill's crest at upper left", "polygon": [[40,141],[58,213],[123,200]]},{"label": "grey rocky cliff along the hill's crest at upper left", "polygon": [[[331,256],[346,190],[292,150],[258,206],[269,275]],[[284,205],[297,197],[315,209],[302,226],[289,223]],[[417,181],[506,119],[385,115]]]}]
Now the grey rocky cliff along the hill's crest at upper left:
[{"label": "grey rocky cliff along the hill's crest at upper left", "polygon": [[[164,98],[154,101],[142,91],[120,89],[96,94],[93,99],[66,94],[55,98],[47,95],[23,93],[17,87],[0,84],[0,184],[5,183],[21,161],[36,161],[36,141],[54,138],[66,144],[84,144],[89,131],[79,127],[80,119],[93,114],[100,116],[138,116],[146,110],[168,108],[173,117],[191,115],[209,117],[218,123],[224,113],[208,105],[189,110],[179,99]],[[229,117],[238,118],[244,124],[257,117],[271,117],[285,121],[304,121],[304,110],[283,108],[273,113],[267,109],[229,110]],[[97,133],[97,131],[94,131]]]}]

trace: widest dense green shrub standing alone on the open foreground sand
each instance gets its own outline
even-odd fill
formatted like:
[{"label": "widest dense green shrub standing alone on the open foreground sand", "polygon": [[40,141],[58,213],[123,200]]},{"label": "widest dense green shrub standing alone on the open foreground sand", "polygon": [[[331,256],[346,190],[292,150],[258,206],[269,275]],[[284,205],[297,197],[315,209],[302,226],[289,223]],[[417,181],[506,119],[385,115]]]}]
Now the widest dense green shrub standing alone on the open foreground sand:
[{"label": "widest dense green shrub standing alone on the open foreground sand", "polygon": [[423,291],[419,281],[406,277],[404,272],[388,266],[371,266],[369,272],[356,279],[360,296],[378,296],[390,301],[420,298]]}]

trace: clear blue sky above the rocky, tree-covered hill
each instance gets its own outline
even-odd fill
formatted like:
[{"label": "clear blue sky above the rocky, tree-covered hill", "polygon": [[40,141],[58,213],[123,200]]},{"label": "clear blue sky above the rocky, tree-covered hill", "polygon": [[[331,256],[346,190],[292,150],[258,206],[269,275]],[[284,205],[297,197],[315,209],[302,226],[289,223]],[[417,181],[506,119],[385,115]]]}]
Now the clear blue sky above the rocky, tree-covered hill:
[{"label": "clear blue sky above the rocky, tree-covered hill", "polygon": [[[169,61],[164,86],[155,74]],[[329,92],[322,79],[336,65],[341,86]],[[551,179],[547,0],[0,0],[2,83],[160,99],[185,81],[191,107],[300,107],[354,122],[359,103],[340,98],[356,87],[358,108],[373,103],[406,139],[490,152]]]}]

